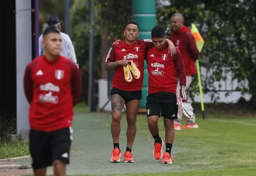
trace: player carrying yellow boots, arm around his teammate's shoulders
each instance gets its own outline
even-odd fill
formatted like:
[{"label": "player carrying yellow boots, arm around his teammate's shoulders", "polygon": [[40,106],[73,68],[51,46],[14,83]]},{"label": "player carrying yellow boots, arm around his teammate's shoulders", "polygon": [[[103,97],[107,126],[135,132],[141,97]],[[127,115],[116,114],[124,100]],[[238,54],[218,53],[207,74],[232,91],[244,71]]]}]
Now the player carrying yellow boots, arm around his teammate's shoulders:
[{"label": "player carrying yellow boots, arm around his teammate's shoulders", "polygon": [[[151,40],[137,40],[139,25],[135,20],[127,21],[124,41],[112,45],[106,57],[105,69],[115,69],[111,89],[113,151],[111,162],[120,162],[119,148],[120,121],[124,105],[127,110],[127,148],[124,161],[133,163],[132,145],[136,135],[137,111],[142,98],[145,51],[153,46]],[[166,41],[172,52],[175,47]]]}]

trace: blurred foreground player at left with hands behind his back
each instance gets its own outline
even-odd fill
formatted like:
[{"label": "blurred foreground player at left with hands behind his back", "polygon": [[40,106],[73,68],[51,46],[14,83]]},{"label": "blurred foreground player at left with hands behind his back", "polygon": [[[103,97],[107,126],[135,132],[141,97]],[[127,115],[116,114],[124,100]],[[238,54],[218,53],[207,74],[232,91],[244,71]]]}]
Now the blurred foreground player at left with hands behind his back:
[{"label": "blurred foreground player at left with hands behind his back", "polygon": [[53,165],[54,176],[66,176],[73,139],[73,107],[81,94],[77,65],[60,56],[60,32],[48,27],[43,32],[45,55],[26,66],[24,91],[29,108],[29,149],[34,176],[46,176]]}]

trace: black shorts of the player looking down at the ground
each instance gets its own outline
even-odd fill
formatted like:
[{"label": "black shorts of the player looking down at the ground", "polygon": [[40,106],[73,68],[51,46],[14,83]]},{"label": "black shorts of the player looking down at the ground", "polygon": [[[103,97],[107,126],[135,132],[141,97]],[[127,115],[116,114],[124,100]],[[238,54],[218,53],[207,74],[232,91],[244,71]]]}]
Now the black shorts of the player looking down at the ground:
[{"label": "black shorts of the player looking down at the ground", "polygon": [[147,117],[158,115],[171,120],[176,120],[178,105],[176,94],[171,92],[157,92],[147,96]]}]

